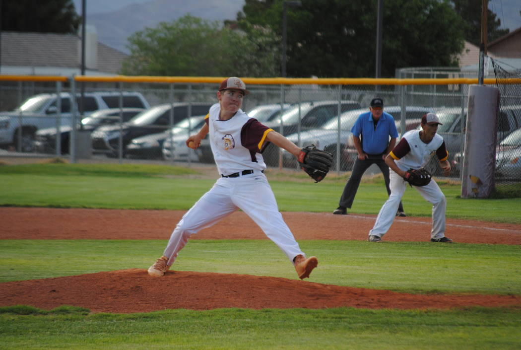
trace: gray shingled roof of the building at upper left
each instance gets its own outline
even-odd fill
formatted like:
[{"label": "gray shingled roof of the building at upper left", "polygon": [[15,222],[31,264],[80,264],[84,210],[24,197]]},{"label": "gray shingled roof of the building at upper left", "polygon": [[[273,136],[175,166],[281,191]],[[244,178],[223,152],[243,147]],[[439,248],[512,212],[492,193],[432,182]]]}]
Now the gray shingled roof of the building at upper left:
[{"label": "gray shingled roof of the building at upper left", "polygon": [[[127,55],[101,42],[96,43],[97,65],[88,67],[85,74],[117,74]],[[0,74],[81,74],[79,35],[2,32],[0,45]]]}]

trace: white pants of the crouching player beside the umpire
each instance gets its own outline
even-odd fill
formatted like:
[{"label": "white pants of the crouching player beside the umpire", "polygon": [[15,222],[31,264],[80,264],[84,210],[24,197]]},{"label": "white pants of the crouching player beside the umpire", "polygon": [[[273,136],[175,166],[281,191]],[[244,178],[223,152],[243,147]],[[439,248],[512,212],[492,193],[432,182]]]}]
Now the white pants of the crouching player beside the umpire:
[{"label": "white pants of the crouching player beside the umpire", "polygon": [[[389,184],[391,195],[380,209],[375,225],[373,229],[369,231],[369,235],[381,237],[389,231],[407,186],[408,183],[400,175],[391,171]],[[425,198],[425,200],[432,203],[432,230],[430,238],[438,239],[444,237],[447,201],[440,187],[434,179],[431,179],[428,185],[421,187],[413,186],[413,188],[420,192],[420,195]]]}]

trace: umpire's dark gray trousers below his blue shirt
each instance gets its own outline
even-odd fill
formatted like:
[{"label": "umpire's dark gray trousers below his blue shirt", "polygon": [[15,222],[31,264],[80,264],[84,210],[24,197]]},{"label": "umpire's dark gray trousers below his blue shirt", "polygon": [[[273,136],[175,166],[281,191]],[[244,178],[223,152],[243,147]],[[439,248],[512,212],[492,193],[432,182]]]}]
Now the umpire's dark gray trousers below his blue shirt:
[{"label": "umpire's dark gray trousers below his blue shirt", "polygon": [[[380,171],[383,174],[383,180],[386,183],[387,194],[391,195],[391,189],[389,188],[389,166],[382,159],[382,154],[368,154],[367,159],[364,159],[363,161],[359,160],[358,157],[355,159],[351,177],[345,184],[342,197],[340,197],[340,207],[351,208],[353,201],[355,200],[356,191],[358,191],[358,186],[362,180],[362,175],[364,175],[369,166],[373,164],[376,164],[380,168]],[[400,201],[398,211],[404,211],[402,201]]]}]

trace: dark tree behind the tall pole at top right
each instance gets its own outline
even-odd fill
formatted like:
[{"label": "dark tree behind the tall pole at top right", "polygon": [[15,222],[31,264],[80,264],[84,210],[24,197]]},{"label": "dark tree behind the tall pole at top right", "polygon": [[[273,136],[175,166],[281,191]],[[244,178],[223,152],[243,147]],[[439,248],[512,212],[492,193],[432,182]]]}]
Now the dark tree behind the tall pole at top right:
[{"label": "dark tree behind the tall pole at top right", "polygon": [[[464,20],[465,40],[479,46],[481,43],[481,3],[482,0],[452,0],[454,10]],[[501,19],[487,9],[487,42],[502,37],[508,29],[499,29]]]}]

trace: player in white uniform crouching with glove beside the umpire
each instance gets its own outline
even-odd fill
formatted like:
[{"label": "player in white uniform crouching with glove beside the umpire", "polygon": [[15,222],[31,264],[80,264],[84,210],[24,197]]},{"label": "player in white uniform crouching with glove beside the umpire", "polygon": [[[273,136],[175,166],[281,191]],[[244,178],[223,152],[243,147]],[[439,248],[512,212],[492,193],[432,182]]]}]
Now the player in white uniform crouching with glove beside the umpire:
[{"label": "player in white uniform crouching with glove beside the umpire", "polygon": [[[369,231],[369,242],[382,242],[381,237],[389,231],[396,209],[407,187],[404,179],[409,169],[423,168],[435,155],[445,176],[451,172],[451,165],[447,161],[449,153],[445,148],[443,137],[436,133],[440,119],[434,113],[427,113],[421,117],[421,130],[407,131],[396,147],[386,158],[392,172],[390,174],[391,195],[383,204],[376,218],[373,229]],[[421,196],[432,203],[432,230],[431,242],[452,243],[452,239],[445,237],[445,208],[446,199],[434,179],[425,186],[413,186]]]}]

